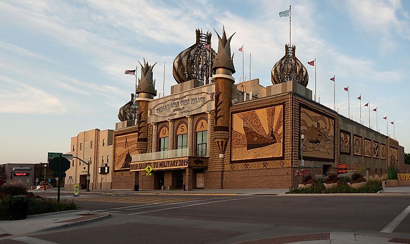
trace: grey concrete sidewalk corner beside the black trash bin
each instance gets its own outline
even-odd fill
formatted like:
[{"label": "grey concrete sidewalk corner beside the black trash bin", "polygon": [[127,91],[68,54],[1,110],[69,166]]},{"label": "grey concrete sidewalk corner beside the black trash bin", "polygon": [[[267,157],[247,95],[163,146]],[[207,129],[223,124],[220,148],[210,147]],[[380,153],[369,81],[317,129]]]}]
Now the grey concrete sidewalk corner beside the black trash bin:
[{"label": "grey concrete sidewalk corner beside the black trash bin", "polygon": [[85,222],[95,221],[109,216],[111,216],[111,214],[96,214],[91,211],[69,210],[29,215],[27,219],[22,220],[3,220],[0,221],[0,237],[26,235],[38,231],[82,225]]}]

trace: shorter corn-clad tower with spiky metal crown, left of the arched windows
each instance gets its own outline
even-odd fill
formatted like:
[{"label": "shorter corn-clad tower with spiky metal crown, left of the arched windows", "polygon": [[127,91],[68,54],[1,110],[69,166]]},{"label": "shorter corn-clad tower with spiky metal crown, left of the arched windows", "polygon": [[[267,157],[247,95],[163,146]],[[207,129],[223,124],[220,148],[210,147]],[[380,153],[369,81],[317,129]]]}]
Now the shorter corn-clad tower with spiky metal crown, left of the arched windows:
[{"label": "shorter corn-clad tower with spiky metal crown, left of the arched windows", "polygon": [[[139,61],[138,61],[139,62]],[[154,96],[157,95],[155,90],[155,80],[152,80],[152,69],[154,65],[149,65],[144,59],[144,65],[141,64],[141,78],[138,79],[138,85],[135,93],[138,94],[136,101],[138,103],[138,139],[137,139],[137,151],[139,154],[147,152],[148,142],[148,103]]]}]

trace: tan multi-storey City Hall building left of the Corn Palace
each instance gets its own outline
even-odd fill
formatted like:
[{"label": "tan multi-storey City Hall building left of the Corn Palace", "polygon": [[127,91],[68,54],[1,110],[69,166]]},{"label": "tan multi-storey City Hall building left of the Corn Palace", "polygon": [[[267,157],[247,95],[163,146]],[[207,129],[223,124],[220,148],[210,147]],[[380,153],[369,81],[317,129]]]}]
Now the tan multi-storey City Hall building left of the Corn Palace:
[{"label": "tan multi-storey City Hall building left of the Corn Palace", "polygon": [[80,188],[86,188],[88,167],[84,162],[90,163],[89,189],[111,189],[109,165],[113,155],[113,130],[80,132],[76,137],[71,137],[70,152],[67,153],[73,154],[73,159],[66,171],[66,190],[74,189],[76,183],[80,184]]}]

